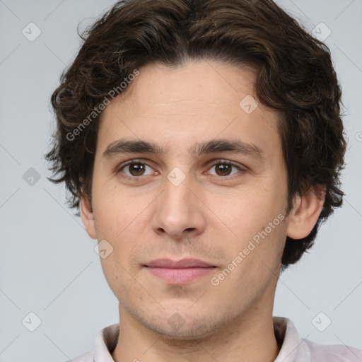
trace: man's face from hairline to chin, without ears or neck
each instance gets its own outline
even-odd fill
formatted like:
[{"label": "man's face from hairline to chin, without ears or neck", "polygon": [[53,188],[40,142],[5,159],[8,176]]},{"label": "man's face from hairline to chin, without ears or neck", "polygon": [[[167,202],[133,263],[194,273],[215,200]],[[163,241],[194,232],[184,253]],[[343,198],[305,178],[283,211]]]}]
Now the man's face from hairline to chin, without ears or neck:
[{"label": "man's face from hairline to chin, without ears or neck", "polygon": [[[211,61],[139,71],[132,92],[103,112],[95,219],[87,226],[92,238],[107,240],[106,250],[113,247],[100,260],[120,308],[180,339],[271,314],[287,224],[279,115],[255,107],[251,71]],[[165,153],[103,156],[120,139],[152,142]],[[189,153],[221,139],[243,142],[249,152]],[[133,166],[122,167],[130,160]],[[163,258],[212,267],[151,267]]]}]

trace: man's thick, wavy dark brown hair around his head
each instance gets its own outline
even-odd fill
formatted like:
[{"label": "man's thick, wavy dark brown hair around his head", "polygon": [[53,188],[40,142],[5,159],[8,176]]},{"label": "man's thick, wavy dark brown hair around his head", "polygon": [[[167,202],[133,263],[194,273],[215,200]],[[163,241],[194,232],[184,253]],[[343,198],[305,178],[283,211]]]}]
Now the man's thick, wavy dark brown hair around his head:
[{"label": "man's thick, wavy dark brown hair around his head", "polygon": [[65,183],[70,206],[79,208],[80,195],[91,201],[99,124],[95,110],[102,101],[110,102],[110,90],[135,69],[205,59],[240,69],[252,66],[259,102],[281,114],[286,215],[294,197],[311,187],[325,192],[311,233],[300,240],[286,238],[281,264],[297,262],[344,195],[339,182],[346,151],[341,88],[327,45],[271,0],[122,0],[79,36],[81,49],[52,94],[57,130],[45,155],[53,172],[48,179]]}]

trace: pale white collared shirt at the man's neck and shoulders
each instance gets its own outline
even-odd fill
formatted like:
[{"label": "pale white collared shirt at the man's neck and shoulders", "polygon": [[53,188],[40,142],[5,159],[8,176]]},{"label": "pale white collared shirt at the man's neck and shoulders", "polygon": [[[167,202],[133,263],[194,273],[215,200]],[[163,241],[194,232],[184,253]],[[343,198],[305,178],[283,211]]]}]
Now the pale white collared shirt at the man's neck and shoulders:
[{"label": "pale white collared shirt at the man's neck and shoulders", "polygon": [[[293,322],[273,317],[276,338],[282,341],[274,362],[362,362],[362,351],[345,345],[325,346],[298,336]],[[73,362],[115,362],[111,353],[117,345],[119,325],[101,329],[93,351],[73,358]],[[69,362],[69,361],[66,361]]]}]

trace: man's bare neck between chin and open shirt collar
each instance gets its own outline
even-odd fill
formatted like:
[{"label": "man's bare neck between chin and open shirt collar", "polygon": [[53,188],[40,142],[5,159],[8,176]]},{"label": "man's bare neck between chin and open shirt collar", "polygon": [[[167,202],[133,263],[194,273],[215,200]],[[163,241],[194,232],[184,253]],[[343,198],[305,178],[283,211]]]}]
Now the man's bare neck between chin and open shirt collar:
[{"label": "man's bare neck between chin and open shirt collar", "polygon": [[[271,362],[279,354],[271,308],[255,306],[217,332],[199,339],[168,339],[139,324],[119,304],[119,337],[115,362]],[[262,310],[262,311],[260,311]],[[257,313],[257,315],[256,315]]]}]

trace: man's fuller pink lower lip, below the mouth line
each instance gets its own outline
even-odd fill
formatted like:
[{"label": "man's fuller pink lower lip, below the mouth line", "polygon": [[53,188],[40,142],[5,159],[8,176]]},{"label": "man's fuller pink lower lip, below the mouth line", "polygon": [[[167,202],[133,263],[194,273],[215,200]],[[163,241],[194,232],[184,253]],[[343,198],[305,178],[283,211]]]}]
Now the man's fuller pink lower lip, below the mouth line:
[{"label": "man's fuller pink lower lip, below the mouth line", "polygon": [[197,278],[211,273],[211,271],[214,271],[215,267],[183,269],[147,267],[146,269],[151,271],[153,275],[166,281],[168,284],[188,284]]}]

